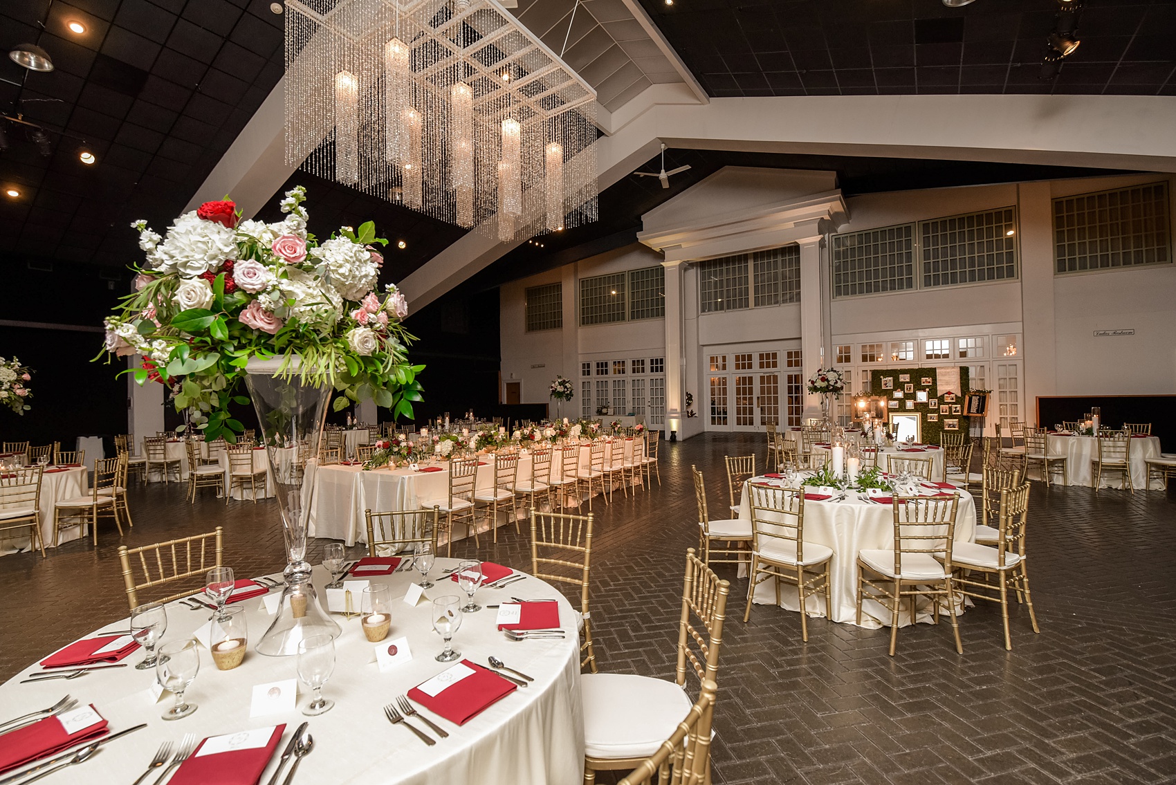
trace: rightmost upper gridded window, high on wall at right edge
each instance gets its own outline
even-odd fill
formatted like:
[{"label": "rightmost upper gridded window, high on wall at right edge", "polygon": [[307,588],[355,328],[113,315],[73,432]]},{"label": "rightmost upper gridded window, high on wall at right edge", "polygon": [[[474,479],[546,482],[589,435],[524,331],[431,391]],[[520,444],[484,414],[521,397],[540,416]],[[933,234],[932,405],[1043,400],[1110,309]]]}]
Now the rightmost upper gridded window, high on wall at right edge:
[{"label": "rightmost upper gridded window, high on wall at right edge", "polygon": [[1171,263],[1168,183],[1054,200],[1057,273]]}]

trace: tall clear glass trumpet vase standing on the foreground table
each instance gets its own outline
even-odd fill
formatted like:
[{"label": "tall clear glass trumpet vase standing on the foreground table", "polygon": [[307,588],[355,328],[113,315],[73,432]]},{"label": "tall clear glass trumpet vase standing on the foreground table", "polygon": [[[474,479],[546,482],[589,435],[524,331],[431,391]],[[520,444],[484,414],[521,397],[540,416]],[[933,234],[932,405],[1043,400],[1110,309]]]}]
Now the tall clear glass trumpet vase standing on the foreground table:
[{"label": "tall clear glass trumpet vase standing on the foreground table", "polygon": [[319,604],[306,561],[319,435],[330,388],[306,381],[296,360],[288,373],[279,375],[281,363],[281,358],[250,360],[246,367],[246,385],[258,412],[286,539],[286,588],[274,622],[256,648],[259,655],[269,657],[298,655],[302,640],[318,635],[335,638],[342,632]]}]

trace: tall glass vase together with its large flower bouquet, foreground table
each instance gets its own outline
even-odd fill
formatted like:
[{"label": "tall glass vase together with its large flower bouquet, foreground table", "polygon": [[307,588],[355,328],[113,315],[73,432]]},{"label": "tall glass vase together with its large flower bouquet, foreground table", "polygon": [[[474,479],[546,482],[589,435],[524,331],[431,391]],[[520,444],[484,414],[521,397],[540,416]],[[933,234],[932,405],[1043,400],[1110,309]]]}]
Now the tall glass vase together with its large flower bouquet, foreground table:
[{"label": "tall glass vase together with its large flower bouquet, foreground table", "polygon": [[[139,384],[169,387],[179,411],[206,441],[235,443],[243,425],[229,404],[252,401],[269,458],[286,541],[286,589],[258,643],[293,655],[310,636],[338,636],[322,611],[306,561],[307,519],[319,435],[332,389],[335,410],[374,400],[410,417],[421,400],[408,362],[408,314],[395,286],[376,293],[383,263],[368,222],[319,242],[307,232],[306,190],[286,193],[282,221],[240,220],[230,201],[205,202],[165,236],[139,230],[146,263],[136,291],[106,320],[106,354],[141,355]],[[241,385],[249,397],[240,395]]]}]

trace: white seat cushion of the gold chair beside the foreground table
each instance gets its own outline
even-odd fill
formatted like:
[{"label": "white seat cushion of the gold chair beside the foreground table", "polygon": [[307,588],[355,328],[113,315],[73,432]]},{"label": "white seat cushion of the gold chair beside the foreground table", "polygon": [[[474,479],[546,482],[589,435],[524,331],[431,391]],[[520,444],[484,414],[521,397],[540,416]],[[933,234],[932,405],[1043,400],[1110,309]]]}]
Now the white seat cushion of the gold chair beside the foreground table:
[{"label": "white seat cushion of the gold chair beside the foreground table", "polygon": [[648,758],[686,719],[693,705],[673,682],[629,673],[583,673],[584,754]]}]

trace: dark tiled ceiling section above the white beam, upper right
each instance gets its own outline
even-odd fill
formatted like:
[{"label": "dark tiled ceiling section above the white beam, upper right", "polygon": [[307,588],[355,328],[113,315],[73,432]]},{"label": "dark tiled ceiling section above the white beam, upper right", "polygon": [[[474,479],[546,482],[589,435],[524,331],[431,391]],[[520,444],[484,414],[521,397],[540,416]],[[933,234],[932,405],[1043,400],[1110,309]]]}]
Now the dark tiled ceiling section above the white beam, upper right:
[{"label": "dark tiled ceiling section above the white beam, upper right", "polygon": [[1176,95],[1176,2],[1087,0],[1043,81],[1057,0],[641,0],[711,96]]}]

